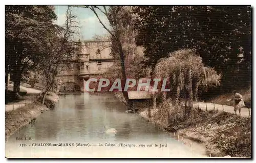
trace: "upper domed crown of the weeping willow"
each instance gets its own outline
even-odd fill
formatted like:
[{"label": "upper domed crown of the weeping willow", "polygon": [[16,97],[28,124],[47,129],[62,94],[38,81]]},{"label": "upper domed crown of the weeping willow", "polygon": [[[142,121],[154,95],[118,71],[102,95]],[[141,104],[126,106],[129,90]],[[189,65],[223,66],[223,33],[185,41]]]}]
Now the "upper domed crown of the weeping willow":
[{"label": "upper domed crown of the weeping willow", "polygon": [[[202,58],[189,49],[175,51],[170,53],[168,58],[160,59],[153,75],[156,78],[169,78],[170,88],[176,89],[179,86],[180,91],[184,89],[184,85],[186,89],[193,86],[194,89],[196,85],[217,86],[220,84],[220,75],[213,68],[204,66]],[[189,85],[187,85],[188,82]]]}]

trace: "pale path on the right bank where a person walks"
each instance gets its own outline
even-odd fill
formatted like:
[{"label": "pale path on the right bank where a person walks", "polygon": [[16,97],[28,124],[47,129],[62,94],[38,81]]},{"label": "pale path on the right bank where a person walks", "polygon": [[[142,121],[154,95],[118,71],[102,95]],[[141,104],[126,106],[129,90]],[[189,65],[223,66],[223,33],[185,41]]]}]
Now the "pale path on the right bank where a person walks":
[{"label": "pale path on the right bank where a person walks", "polygon": [[[219,110],[219,111],[226,111],[226,112],[230,112],[230,113],[234,113],[234,107],[233,106],[227,106],[227,105],[220,105],[220,104],[214,104],[214,103],[206,103],[205,102],[198,102],[194,104],[194,107],[197,108],[199,106],[199,108],[206,110],[206,105],[207,105],[207,110]],[[239,111],[237,111],[237,114],[239,113]],[[250,114],[251,114],[251,109],[250,109]],[[242,117],[249,117],[249,111],[248,108],[241,108],[241,116]]]}]

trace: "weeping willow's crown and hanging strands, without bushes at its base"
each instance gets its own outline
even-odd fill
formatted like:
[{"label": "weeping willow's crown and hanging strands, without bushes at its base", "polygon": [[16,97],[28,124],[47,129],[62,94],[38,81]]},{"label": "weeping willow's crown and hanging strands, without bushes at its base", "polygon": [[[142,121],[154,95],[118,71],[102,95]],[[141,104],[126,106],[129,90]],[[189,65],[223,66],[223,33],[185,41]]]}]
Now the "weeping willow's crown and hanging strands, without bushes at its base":
[{"label": "weeping willow's crown and hanging strands, without bushes at its base", "polygon": [[[170,53],[168,58],[160,59],[155,66],[153,77],[168,79],[169,97],[175,99],[178,120],[196,115],[190,114],[190,111],[193,108],[193,99],[198,100],[199,87],[205,87],[207,90],[207,87],[220,84],[220,75],[213,68],[204,66],[202,58],[189,49],[175,51]],[[181,103],[181,92],[183,98],[188,101],[188,109],[178,107]]]}]

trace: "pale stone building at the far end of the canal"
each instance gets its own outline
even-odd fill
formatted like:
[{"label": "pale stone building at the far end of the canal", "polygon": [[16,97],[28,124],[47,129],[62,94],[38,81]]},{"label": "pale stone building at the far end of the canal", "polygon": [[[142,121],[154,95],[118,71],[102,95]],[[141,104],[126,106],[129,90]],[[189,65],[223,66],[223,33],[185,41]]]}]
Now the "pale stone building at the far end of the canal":
[{"label": "pale stone building at the far end of the canal", "polygon": [[60,67],[59,91],[83,91],[84,82],[104,73],[114,63],[110,41],[85,40],[81,44],[80,52]]}]

